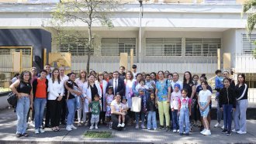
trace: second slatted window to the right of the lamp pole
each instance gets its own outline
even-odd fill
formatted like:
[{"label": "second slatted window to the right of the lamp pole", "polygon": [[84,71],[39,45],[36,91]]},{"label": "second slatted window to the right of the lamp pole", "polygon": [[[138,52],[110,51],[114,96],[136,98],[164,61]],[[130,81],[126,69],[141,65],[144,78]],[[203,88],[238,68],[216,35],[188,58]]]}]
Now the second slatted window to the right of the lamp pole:
[{"label": "second slatted window to the right of the lamp pole", "polygon": [[221,39],[185,39],[185,56],[216,57]]}]

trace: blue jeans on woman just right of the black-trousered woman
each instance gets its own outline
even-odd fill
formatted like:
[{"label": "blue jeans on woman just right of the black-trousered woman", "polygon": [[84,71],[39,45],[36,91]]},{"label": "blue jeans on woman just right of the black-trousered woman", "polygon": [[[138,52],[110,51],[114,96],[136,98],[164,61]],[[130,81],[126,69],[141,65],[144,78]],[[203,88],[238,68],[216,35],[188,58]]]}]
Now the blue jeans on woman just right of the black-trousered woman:
[{"label": "blue jeans on woman just right of the black-trousered woman", "polygon": [[72,125],[74,122],[74,114],[77,109],[77,101],[75,98],[67,100],[67,108],[68,108],[68,115],[67,115],[67,125]]}]

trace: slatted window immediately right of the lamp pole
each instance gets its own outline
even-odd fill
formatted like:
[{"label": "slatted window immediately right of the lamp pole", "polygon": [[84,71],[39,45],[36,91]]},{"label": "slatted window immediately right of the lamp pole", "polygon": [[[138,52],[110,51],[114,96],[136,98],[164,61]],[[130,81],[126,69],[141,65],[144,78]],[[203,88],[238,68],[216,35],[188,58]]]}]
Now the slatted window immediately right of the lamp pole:
[{"label": "slatted window immediately right of the lamp pole", "polygon": [[182,56],[182,38],[147,38],[146,56]]}]

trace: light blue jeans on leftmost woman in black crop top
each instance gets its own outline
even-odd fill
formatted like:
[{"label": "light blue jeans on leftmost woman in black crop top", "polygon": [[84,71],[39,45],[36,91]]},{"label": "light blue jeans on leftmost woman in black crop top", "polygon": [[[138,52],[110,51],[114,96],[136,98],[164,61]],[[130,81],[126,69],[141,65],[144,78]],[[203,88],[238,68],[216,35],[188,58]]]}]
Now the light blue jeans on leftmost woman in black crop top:
[{"label": "light blue jeans on leftmost woman in black crop top", "polygon": [[16,133],[24,134],[26,132],[26,116],[29,111],[29,103],[29,97],[22,97],[17,101],[16,114],[18,123]]}]

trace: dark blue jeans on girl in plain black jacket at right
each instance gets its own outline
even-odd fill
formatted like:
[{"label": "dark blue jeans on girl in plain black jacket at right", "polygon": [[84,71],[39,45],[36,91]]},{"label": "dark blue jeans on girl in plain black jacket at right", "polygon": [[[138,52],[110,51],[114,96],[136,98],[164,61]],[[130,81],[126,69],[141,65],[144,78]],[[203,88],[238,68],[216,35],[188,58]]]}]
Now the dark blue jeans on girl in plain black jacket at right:
[{"label": "dark blue jeans on girl in plain black jacket at right", "polygon": [[223,122],[224,122],[224,129],[228,131],[231,130],[232,124],[232,108],[233,105],[223,105]]}]

